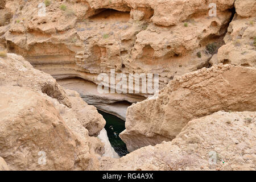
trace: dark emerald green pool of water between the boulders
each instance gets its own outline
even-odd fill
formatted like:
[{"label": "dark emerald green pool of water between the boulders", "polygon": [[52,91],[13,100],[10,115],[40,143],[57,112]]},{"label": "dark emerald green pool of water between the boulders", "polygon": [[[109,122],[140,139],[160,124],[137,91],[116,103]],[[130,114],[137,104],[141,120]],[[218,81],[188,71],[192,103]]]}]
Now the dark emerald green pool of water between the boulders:
[{"label": "dark emerald green pool of water between the boulders", "polygon": [[98,110],[98,113],[100,113],[106,120],[105,129],[108,133],[109,142],[115,152],[117,152],[119,156],[128,154],[129,152],[127,151],[126,144],[119,137],[119,133],[125,130],[125,121],[115,115],[105,113],[101,110]]}]

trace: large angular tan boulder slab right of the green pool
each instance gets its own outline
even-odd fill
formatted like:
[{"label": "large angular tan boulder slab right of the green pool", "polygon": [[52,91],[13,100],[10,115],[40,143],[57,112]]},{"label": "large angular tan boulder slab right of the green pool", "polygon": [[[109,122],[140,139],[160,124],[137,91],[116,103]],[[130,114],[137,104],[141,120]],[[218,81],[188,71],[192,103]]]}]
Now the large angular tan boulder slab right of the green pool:
[{"label": "large angular tan boulder slab right of the green pool", "polygon": [[218,110],[256,110],[256,69],[214,65],[172,80],[158,95],[128,107],[119,136],[133,151],[172,140],[191,119]]}]

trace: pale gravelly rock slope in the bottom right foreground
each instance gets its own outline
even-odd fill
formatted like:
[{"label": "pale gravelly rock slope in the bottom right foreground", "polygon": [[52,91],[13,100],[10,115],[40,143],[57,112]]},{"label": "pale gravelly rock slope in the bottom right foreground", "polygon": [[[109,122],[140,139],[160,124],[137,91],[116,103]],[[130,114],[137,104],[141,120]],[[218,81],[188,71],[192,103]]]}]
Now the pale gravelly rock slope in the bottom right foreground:
[{"label": "pale gravelly rock slope in the bottom right foreground", "polygon": [[255,170],[255,122],[255,112],[218,111],[189,121],[171,142],[140,148],[119,160],[102,158],[101,169]]}]

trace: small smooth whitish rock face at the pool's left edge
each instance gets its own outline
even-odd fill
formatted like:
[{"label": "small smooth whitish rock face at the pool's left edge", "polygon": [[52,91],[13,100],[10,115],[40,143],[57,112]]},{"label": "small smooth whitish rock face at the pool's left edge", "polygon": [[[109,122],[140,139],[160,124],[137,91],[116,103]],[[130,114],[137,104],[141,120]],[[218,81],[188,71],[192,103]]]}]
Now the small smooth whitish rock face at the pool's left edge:
[{"label": "small smooth whitish rock face at the pool's left edge", "polygon": [[111,146],[108,138],[108,134],[105,129],[102,129],[98,138],[101,142],[104,143],[105,153],[102,156],[110,157],[110,158],[119,158],[117,152],[115,152],[114,148]]}]

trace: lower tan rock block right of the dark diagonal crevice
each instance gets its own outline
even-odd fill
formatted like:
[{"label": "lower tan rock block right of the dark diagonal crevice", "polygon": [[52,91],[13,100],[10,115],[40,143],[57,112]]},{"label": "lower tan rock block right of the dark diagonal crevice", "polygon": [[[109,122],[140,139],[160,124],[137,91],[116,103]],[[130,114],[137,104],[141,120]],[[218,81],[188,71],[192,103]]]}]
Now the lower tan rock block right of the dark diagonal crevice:
[{"label": "lower tan rock block right of the dark diagonal crevice", "polygon": [[256,67],[256,18],[235,15],[229,24],[225,45],[218,49],[217,63]]}]

